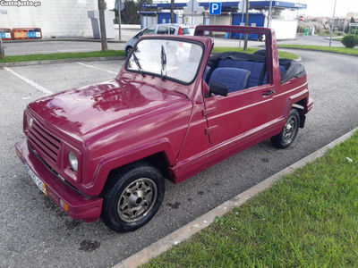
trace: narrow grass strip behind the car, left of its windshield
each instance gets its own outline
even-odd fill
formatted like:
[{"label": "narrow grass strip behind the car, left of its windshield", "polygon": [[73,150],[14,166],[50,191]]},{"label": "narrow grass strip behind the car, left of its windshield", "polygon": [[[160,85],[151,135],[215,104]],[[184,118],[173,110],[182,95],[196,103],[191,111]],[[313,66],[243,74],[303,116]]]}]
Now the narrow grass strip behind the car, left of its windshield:
[{"label": "narrow grass strip behind the car, left of its windshield", "polygon": [[91,51],[91,52],[77,52],[77,53],[54,53],[54,54],[26,54],[26,55],[5,56],[4,59],[0,59],[0,63],[83,59],[83,58],[124,56],[124,55],[125,55],[124,50]]}]

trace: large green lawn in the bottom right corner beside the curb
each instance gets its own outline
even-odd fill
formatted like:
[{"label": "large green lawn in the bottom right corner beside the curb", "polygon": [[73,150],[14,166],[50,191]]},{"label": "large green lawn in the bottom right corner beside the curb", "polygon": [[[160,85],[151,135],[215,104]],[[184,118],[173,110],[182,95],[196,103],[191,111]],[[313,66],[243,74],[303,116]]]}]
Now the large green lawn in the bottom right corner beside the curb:
[{"label": "large green lawn in the bottom right corner beside the curb", "polygon": [[357,170],[358,132],[144,267],[357,267]]}]

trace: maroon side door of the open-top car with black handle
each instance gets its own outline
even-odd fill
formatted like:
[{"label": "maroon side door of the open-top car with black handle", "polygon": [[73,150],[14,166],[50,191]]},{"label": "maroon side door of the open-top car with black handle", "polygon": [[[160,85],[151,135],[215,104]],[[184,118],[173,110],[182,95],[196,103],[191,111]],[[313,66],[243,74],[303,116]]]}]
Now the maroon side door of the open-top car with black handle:
[{"label": "maroon side door of the open-top car with black handle", "polygon": [[274,93],[273,84],[267,83],[234,91],[227,96],[205,97],[209,142],[241,140],[267,130],[278,117],[273,112]]}]

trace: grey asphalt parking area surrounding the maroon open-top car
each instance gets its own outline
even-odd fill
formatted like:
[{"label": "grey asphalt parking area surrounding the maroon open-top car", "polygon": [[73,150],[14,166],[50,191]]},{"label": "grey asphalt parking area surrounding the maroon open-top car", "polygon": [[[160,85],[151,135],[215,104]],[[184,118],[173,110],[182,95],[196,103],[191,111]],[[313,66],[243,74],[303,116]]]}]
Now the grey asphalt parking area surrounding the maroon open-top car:
[{"label": "grey asphalt parking area surrounding the maroon open-top car", "polygon": [[[267,140],[183,183],[167,182],[155,218],[124,234],[100,220],[73,221],[30,180],[14,143],[24,138],[23,110],[43,94],[0,69],[0,267],[110,267],[357,127],[357,58],[294,53],[303,58],[315,104],[293,146],[277,150]],[[122,62],[86,64],[98,69],[78,63],[10,69],[55,93],[112,79]]]}]

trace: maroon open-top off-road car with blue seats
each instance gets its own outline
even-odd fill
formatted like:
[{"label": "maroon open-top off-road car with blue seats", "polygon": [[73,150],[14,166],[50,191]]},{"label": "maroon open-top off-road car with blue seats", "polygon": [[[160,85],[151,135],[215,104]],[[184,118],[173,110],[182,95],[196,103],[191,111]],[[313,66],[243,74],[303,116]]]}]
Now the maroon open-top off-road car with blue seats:
[{"label": "maroon open-top off-road car with blue seats", "polygon": [[[215,30],[265,34],[266,54],[211,55],[203,33]],[[136,230],[158,212],[164,178],[181,182],[267,138],[289,147],[304,127],[306,72],[278,59],[273,29],[198,26],[195,35],[143,36],[115,80],[27,106],[17,155],[73,219]]]}]

